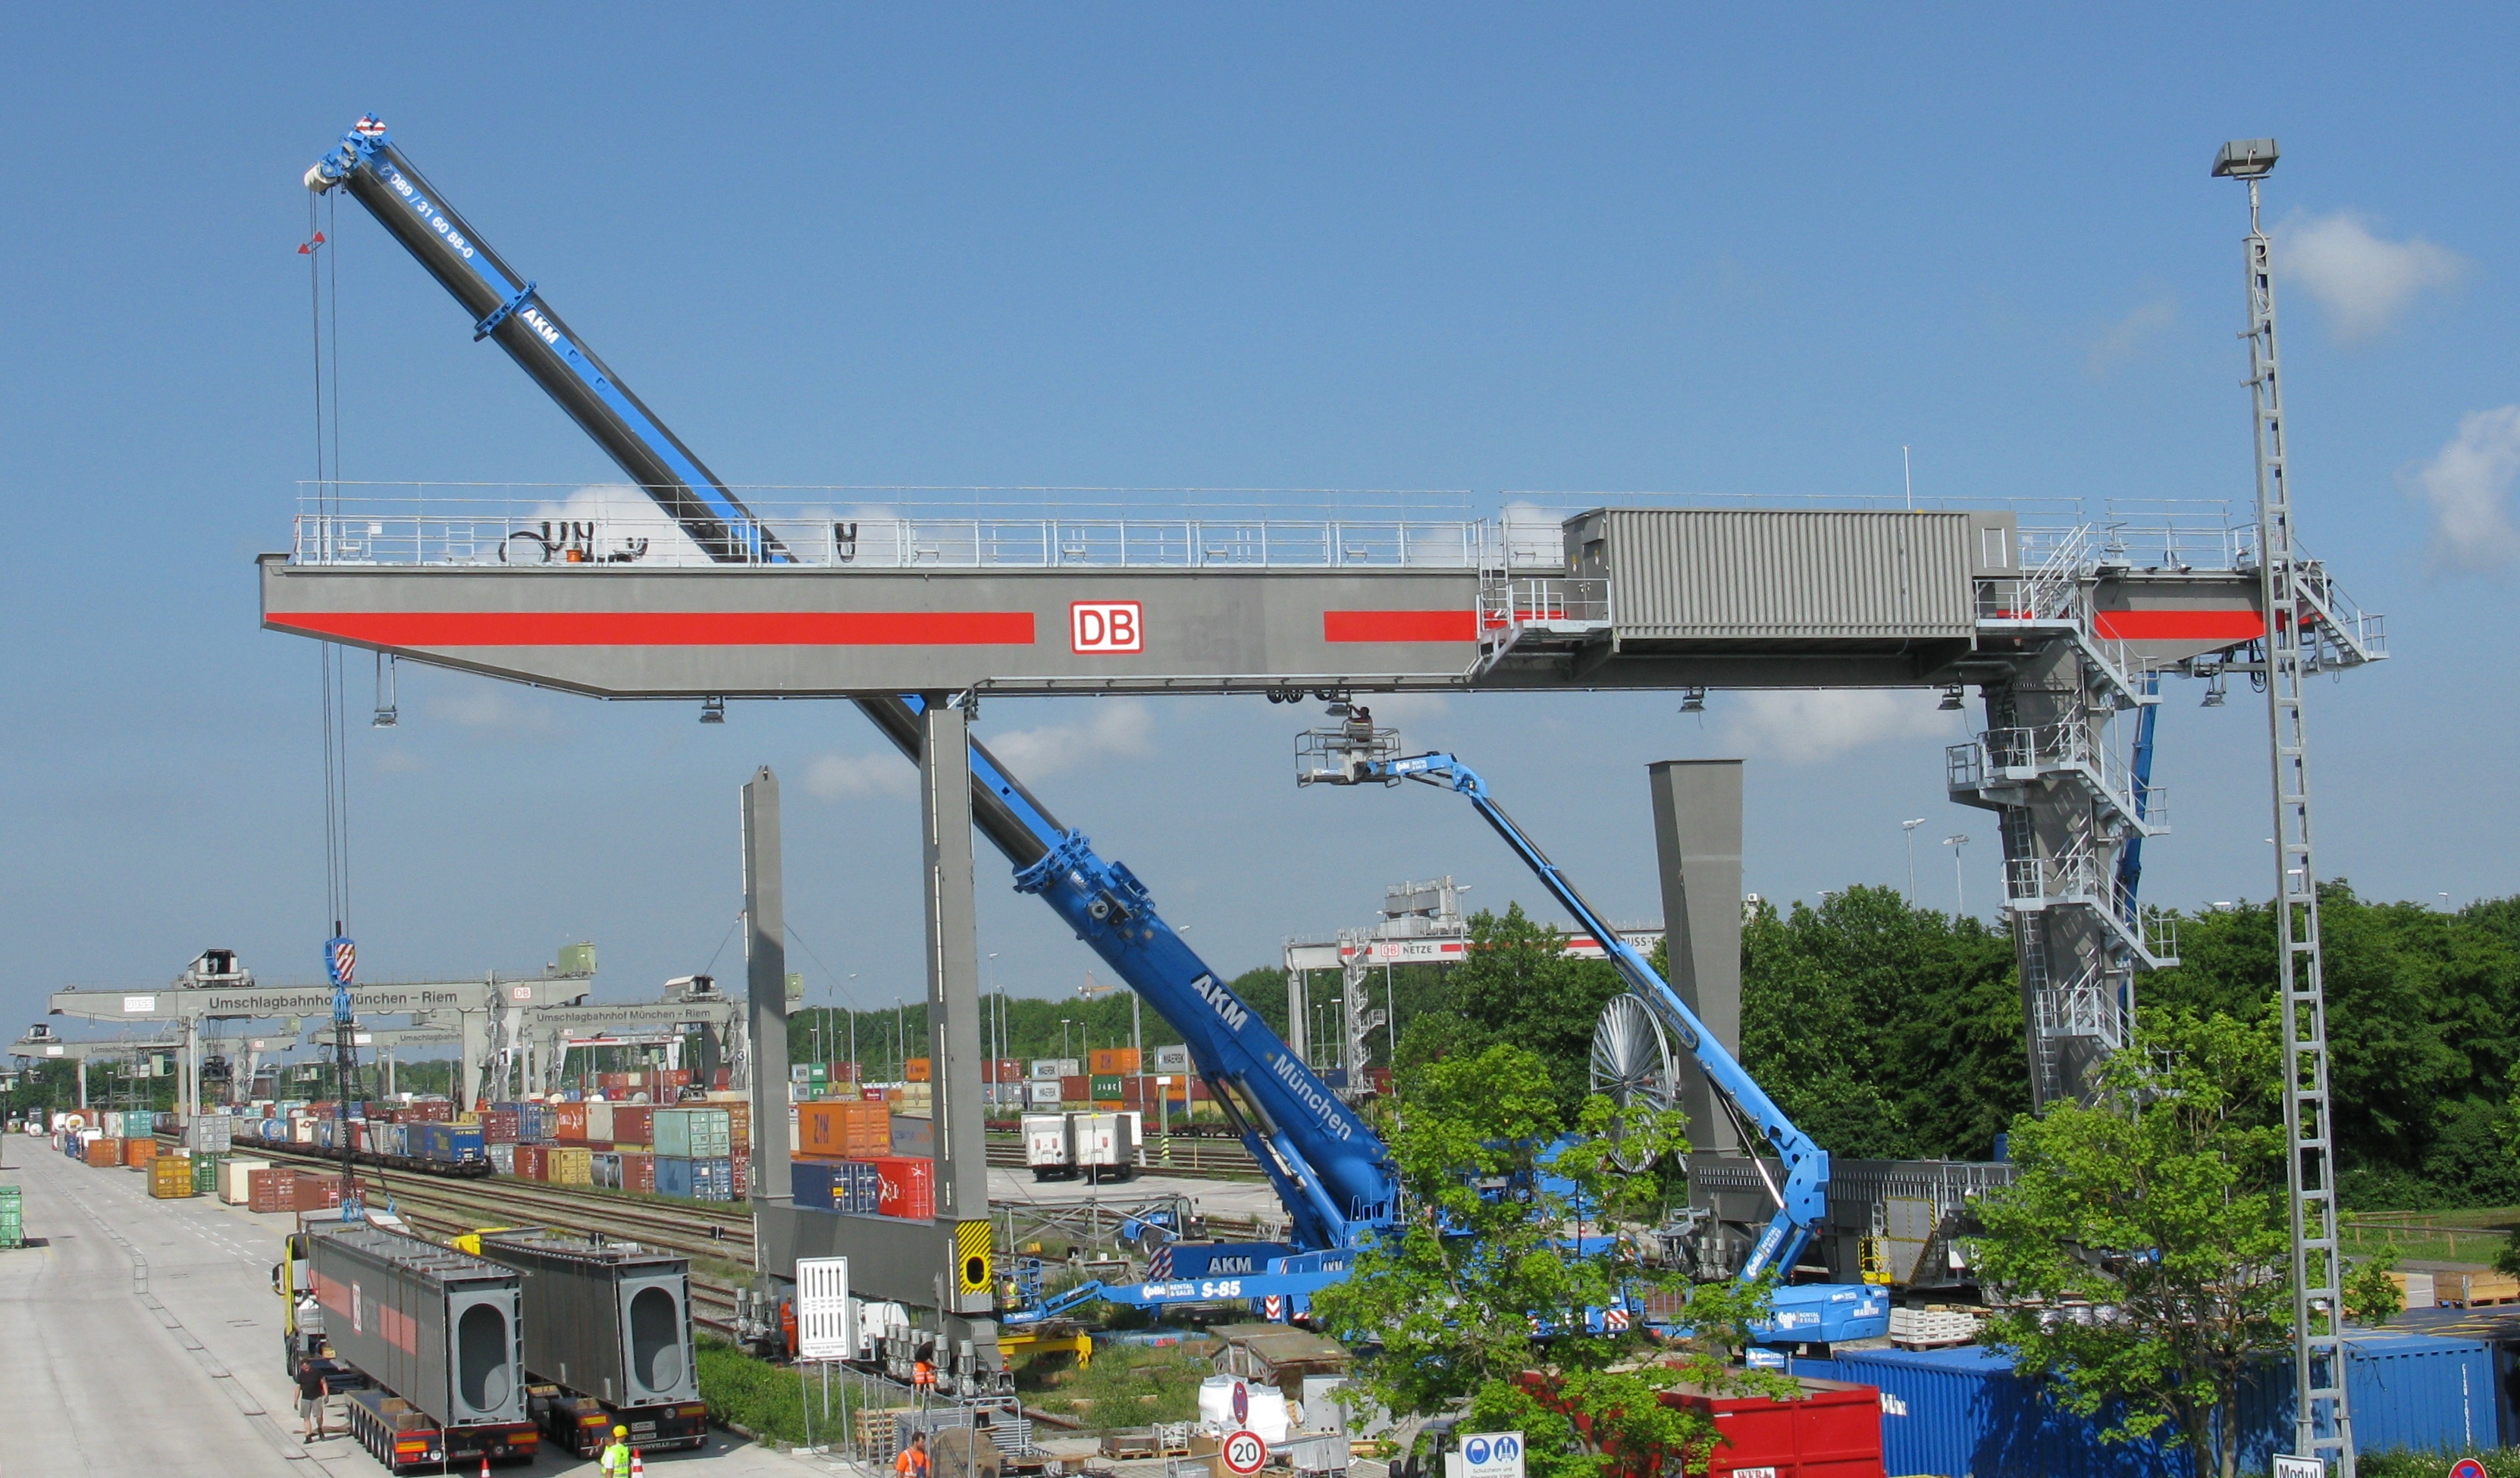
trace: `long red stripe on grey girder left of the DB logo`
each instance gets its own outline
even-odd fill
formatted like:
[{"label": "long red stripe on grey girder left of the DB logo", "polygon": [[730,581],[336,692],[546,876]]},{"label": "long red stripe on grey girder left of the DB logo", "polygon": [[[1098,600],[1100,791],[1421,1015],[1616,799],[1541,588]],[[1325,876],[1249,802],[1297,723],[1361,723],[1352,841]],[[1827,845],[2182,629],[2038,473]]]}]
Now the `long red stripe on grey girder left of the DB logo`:
[{"label": "long red stripe on grey girder left of the DB logo", "polygon": [[1033,612],[280,612],[378,647],[1031,647]]}]

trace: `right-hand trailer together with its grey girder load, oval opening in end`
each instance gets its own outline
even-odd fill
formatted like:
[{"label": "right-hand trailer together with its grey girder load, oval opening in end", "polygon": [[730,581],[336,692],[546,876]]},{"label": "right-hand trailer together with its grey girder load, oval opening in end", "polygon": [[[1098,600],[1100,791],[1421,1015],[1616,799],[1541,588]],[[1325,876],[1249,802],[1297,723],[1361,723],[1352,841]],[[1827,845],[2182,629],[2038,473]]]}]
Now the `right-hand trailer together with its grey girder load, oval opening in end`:
[{"label": "right-hand trailer together with its grey girder load, oval opening in end", "polygon": [[532,1413],[554,1443],[592,1458],[615,1425],[635,1448],[708,1443],[685,1259],[554,1231],[484,1231],[481,1256],[522,1279]]}]

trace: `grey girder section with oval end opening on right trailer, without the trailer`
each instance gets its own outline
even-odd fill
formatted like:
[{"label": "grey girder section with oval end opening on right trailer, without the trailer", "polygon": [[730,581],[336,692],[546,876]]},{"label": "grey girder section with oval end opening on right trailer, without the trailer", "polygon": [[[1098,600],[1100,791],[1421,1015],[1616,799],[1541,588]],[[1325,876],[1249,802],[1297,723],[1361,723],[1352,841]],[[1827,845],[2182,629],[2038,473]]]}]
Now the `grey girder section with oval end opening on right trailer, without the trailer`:
[{"label": "grey girder section with oval end opening on right trailer, without the trailer", "polygon": [[524,1367],[610,1405],[701,1400],[690,1264],[627,1241],[501,1231],[481,1256],[524,1279]]}]

